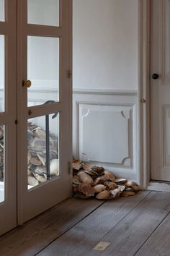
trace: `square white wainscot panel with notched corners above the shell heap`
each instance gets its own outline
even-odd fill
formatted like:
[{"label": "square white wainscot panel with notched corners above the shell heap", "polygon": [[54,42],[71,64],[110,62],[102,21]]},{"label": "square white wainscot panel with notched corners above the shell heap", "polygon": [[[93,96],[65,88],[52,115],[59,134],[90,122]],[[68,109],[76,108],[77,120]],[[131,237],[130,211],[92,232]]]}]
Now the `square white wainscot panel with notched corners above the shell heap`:
[{"label": "square white wainscot panel with notched corners above the shell heap", "polygon": [[79,158],[86,155],[89,161],[117,164],[129,158],[130,111],[127,107],[79,103]]}]

